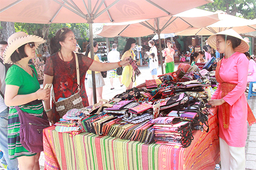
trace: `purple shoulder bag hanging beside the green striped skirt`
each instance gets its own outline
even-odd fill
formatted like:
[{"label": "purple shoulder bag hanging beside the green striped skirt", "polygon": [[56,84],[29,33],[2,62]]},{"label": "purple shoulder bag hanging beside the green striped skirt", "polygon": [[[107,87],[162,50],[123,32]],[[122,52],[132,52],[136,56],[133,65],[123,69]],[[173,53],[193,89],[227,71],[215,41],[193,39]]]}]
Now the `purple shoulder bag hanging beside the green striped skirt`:
[{"label": "purple shoulder bag hanging beside the green striped skirt", "polygon": [[43,151],[43,129],[49,127],[49,121],[45,112],[43,118],[30,115],[18,106],[15,106],[18,111],[20,120],[20,143],[29,152],[40,153]]}]

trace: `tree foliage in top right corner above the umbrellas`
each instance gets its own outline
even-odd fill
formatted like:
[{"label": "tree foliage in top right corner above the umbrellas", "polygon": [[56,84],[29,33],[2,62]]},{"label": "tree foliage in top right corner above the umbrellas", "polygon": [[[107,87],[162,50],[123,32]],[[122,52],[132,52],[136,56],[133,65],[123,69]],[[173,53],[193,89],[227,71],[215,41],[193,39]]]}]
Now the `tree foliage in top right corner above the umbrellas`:
[{"label": "tree foliage in top right corner above the umbrellas", "polygon": [[256,18],[255,0],[214,0],[214,3],[208,3],[199,8],[213,12],[222,10],[229,15],[245,19]]}]

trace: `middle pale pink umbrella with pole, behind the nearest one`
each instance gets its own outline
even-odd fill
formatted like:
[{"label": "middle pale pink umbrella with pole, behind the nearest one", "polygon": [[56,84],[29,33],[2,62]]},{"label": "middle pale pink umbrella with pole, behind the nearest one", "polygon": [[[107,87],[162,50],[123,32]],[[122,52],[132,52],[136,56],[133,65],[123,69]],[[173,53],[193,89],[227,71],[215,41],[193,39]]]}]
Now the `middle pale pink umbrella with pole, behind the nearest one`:
[{"label": "middle pale pink umbrella with pole, behind the nearest one", "polygon": [[[103,25],[102,30],[100,30],[97,35],[103,37],[141,37],[157,33],[159,37],[161,33],[179,32],[189,28],[203,28],[217,21],[219,21],[217,14],[194,8],[174,16],[159,17],[139,23]],[[162,74],[164,74],[164,69],[162,67],[161,43],[159,43],[159,49],[161,70]]]}]

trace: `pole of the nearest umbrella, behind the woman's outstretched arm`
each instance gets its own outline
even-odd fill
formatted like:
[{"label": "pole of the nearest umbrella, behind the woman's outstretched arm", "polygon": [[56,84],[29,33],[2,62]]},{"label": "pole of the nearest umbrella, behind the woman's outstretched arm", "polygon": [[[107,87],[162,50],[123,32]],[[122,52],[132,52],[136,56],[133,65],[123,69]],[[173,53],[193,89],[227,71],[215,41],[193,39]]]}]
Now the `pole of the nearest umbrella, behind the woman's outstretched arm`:
[{"label": "pole of the nearest umbrella, behind the woman's outstretched arm", "polygon": [[[92,22],[88,24],[89,24],[89,34],[90,34],[90,55],[91,55],[91,59],[94,60],[94,36],[92,33]],[[97,96],[96,96],[95,71],[91,71],[91,78],[92,78],[92,93],[94,94],[94,104],[96,104]]]}]

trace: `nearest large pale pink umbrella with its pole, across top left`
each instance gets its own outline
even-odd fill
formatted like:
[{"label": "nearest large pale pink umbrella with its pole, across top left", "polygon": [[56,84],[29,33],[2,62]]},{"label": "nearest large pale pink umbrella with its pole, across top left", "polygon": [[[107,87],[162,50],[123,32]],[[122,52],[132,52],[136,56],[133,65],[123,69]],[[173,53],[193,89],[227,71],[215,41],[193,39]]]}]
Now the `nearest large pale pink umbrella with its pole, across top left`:
[{"label": "nearest large pale pink umbrella with its pole, across top left", "polygon": [[[26,23],[125,22],[173,16],[212,0],[0,0],[0,21]],[[91,51],[93,42],[90,41]],[[91,58],[94,59],[93,53]],[[95,73],[92,72],[96,103]]]}]

